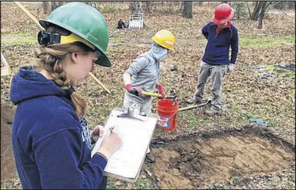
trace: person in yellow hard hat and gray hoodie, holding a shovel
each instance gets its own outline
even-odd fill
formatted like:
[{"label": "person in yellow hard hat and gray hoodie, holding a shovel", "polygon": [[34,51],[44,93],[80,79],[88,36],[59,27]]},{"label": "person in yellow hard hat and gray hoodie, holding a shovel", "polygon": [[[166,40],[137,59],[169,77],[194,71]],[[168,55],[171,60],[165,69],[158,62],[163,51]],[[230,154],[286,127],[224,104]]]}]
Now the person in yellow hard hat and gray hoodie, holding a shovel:
[{"label": "person in yellow hard hat and gray hoodie, holding a shovel", "polygon": [[[142,95],[142,90],[154,93],[156,88],[166,98],[166,92],[159,83],[160,71],[159,63],[168,55],[168,50],[174,50],[175,36],[172,32],[162,29],[152,37],[154,43],[152,48],[142,55],[139,55],[132,65],[123,74],[123,82],[126,93],[124,95],[123,107],[130,107],[136,103],[140,106],[140,112],[146,114],[152,111],[152,97]],[[135,91],[137,95],[130,93]],[[146,160],[150,163],[155,162],[154,156],[150,149],[147,150]]]}]

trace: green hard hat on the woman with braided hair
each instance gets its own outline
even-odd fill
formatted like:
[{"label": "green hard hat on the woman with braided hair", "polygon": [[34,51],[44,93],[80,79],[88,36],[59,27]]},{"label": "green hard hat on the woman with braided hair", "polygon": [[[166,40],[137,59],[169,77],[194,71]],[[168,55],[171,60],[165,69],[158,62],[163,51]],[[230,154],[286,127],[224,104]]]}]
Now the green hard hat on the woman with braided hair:
[{"label": "green hard hat on the woman with braided hair", "polygon": [[65,28],[99,49],[103,56],[98,65],[111,67],[106,51],[109,43],[109,32],[104,16],[92,6],[81,2],[71,2],[56,8],[48,18],[39,20],[47,29],[50,24]]}]

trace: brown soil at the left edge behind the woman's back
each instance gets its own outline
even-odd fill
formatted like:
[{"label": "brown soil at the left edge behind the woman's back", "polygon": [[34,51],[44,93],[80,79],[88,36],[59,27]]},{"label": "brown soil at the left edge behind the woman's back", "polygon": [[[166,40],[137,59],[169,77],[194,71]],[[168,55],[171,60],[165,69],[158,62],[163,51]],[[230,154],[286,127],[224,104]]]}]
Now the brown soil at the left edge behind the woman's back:
[{"label": "brown soil at the left edge behind the woman's back", "polygon": [[1,181],[15,178],[15,161],[11,145],[11,127],[14,111],[1,106]]}]

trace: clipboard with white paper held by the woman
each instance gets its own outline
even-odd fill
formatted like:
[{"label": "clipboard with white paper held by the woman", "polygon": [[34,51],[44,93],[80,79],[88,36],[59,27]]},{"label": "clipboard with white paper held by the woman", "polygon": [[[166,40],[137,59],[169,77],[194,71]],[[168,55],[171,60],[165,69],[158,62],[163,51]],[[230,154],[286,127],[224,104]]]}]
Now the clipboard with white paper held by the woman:
[{"label": "clipboard with white paper held by the woman", "polygon": [[117,117],[120,114],[124,114],[126,110],[124,108],[116,108],[111,111],[105,123],[104,134],[97,140],[91,152],[91,157],[100,148],[105,135],[110,133],[109,128],[115,125],[114,131],[119,133],[123,140],[123,146],[108,159],[104,170],[105,175],[126,182],[136,182],[156,128],[157,114],[138,116],[141,120]]}]

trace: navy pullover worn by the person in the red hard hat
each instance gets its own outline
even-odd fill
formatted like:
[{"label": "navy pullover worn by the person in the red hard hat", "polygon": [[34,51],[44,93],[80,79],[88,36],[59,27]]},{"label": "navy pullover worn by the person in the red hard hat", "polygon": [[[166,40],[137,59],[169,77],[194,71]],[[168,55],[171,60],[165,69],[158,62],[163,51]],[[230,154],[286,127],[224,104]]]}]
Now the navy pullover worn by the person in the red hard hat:
[{"label": "navy pullover worn by the person in the red hard hat", "polygon": [[[203,62],[210,65],[235,64],[238,55],[238,31],[234,25],[229,22],[228,27],[218,31],[217,25],[208,22],[201,31],[208,39]],[[231,60],[229,60],[229,46],[231,46]]]}]

